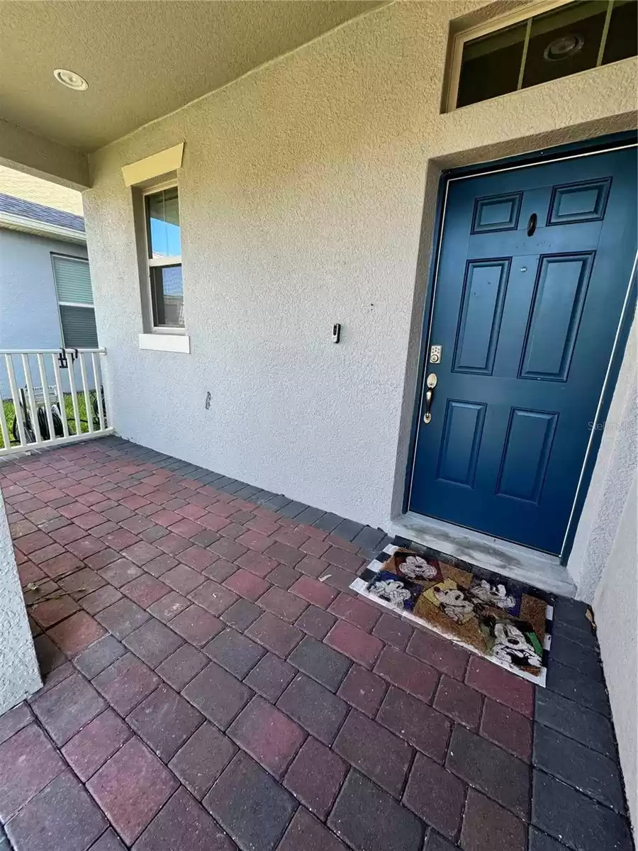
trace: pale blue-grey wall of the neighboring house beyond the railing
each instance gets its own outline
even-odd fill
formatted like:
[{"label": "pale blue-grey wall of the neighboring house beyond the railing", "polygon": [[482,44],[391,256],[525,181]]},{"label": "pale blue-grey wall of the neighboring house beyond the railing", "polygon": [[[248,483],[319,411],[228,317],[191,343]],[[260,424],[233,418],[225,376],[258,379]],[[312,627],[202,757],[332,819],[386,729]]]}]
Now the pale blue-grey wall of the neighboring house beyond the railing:
[{"label": "pale blue-grey wall of the neighboring house beyond the railing", "polygon": [[[83,245],[37,237],[31,233],[0,228],[0,349],[59,349],[62,345],[60,315],[55,294],[51,253],[87,257]],[[45,360],[48,380],[54,384],[50,358]],[[15,361],[16,381],[24,385],[23,371]],[[63,389],[69,385],[60,370]],[[39,385],[37,363],[31,361],[31,377]],[[80,380],[79,368],[76,378]],[[9,380],[0,358],[0,392],[9,396]]]}]

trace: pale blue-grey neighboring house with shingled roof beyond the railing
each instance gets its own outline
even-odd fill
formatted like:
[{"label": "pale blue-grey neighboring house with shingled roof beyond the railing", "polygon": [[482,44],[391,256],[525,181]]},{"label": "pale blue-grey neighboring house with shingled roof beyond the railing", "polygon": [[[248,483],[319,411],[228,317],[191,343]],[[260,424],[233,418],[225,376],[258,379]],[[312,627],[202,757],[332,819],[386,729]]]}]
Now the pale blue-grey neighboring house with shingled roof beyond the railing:
[{"label": "pale blue-grey neighboring house with shingled roof beyond the railing", "polygon": [[[0,192],[0,349],[97,345],[83,218]],[[1,360],[0,392],[9,396]]]}]

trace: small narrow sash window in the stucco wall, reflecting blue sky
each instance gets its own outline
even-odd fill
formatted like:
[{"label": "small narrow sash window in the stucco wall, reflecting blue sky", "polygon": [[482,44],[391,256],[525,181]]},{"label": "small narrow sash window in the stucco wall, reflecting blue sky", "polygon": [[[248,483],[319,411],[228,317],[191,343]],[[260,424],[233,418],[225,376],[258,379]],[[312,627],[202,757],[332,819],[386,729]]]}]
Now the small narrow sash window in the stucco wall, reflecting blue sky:
[{"label": "small narrow sash window in the stucco wall, reflecting blue sky", "polygon": [[184,328],[177,186],[146,193],[145,218],[153,328]]}]

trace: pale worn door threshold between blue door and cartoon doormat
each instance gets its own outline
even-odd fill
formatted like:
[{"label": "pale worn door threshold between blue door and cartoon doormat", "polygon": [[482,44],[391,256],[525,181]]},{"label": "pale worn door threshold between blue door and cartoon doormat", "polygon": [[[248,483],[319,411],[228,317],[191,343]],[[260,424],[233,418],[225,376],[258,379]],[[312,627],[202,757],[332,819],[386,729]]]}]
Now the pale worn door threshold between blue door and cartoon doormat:
[{"label": "pale worn door threshold between blue door and cartoon doormat", "polygon": [[531,550],[521,544],[493,538],[481,532],[434,517],[408,511],[390,523],[390,533],[431,546],[448,556],[476,564],[551,594],[575,597],[576,585],[558,556]]}]

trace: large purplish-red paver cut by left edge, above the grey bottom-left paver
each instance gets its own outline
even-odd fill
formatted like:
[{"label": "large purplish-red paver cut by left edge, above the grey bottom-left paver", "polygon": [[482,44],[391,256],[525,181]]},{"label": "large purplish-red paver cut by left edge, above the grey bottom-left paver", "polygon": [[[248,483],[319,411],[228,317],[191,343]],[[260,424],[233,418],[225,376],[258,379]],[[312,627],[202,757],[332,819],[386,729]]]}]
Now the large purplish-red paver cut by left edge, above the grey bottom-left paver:
[{"label": "large purplish-red paver cut by left edge, above the grey bottom-left paver", "polygon": [[31,801],[65,763],[36,724],[28,724],[0,745],[0,818],[6,824]]}]

